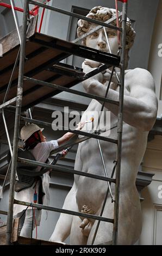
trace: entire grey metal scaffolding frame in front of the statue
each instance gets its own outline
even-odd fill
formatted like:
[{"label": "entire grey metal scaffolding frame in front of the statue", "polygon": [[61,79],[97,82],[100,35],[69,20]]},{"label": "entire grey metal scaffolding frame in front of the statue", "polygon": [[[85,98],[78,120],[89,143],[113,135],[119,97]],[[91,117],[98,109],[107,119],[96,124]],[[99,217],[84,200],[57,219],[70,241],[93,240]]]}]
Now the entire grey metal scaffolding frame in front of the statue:
[{"label": "entire grey metal scaffolding frame in front of the statue", "polygon": [[[65,209],[54,208],[54,207],[51,207],[51,206],[34,204],[34,203],[32,203],[32,206],[35,207],[35,208],[39,208],[39,209],[46,209],[46,210],[62,212],[62,213],[70,214],[70,215],[92,218],[94,220],[98,220],[98,225],[99,225],[100,221],[113,223],[114,224],[113,245],[117,245],[117,232],[118,232],[118,223],[119,223],[118,220],[119,220],[120,169],[121,169],[121,150],[122,150],[122,123],[123,123],[124,50],[125,50],[125,46],[126,46],[126,21],[127,21],[127,1],[124,0],[122,2],[123,2],[122,14],[119,14],[119,16],[122,15],[122,28],[119,28],[119,27],[116,27],[116,26],[113,26],[113,25],[110,24],[116,18],[112,18],[109,21],[106,21],[105,23],[103,23],[103,22],[100,22],[100,21],[97,21],[97,20],[94,20],[94,19],[92,20],[88,17],[84,17],[82,15],[71,13],[70,11],[61,10],[61,9],[58,9],[58,8],[55,8],[55,7],[51,7],[49,5],[45,5],[45,4],[42,4],[42,3],[39,3],[39,2],[35,2],[33,0],[24,0],[23,22],[22,22],[23,26],[22,26],[22,34],[21,34],[21,39],[20,39],[20,50],[17,53],[17,58],[16,58],[16,62],[15,62],[15,65],[14,65],[13,72],[11,74],[11,78],[10,78],[10,82],[9,82],[9,85],[8,85],[7,93],[4,96],[3,103],[0,105],[0,109],[2,109],[2,111],[3,111],[3,109],[5,107],[8,107],[9,105],[16,102],[13,150],[11,148],[10,139],[9,139],[8,130],[7,130],[7,125],[5,123],[4,112],[2,112],[3,113],[3,121],[4,121],[4,125],[5,125],[5,130],[7,132],[9,148],[10,148],[10,151],[11,151],[11,155],[13,155],[12,162],[11,162],[9,209],[8,209],[8,218],[7,218],[7,243],[8,244],[11,243],[10,242],[11,241],[11,232],[12,232],[12,227],[13,227],[13,205],[14,204],[21,204],[21,205],[31,206],[31,203],[22,202],[22,201],[18,201],[18,200],[14,199],[16,167],[17,167],[17,161],[20,161],[20,162],[32,164],[32,165],[35,165],[35,166],[41,166],[41,167],[46,167],[46,168],[49,168],[49,169],[58,170],[59,172],[72,173],[72,174],[76,174],[76,175],[82,175],[82,176],[86,176],[86,177],[89,177],[89,178],[106,181],[108,183],[108,190],[107,190],[107,194],[105,195],[105,200],[104,200],[104,204],[103,204],[103,208],[102,208],[102,212],[101,212],[100,216],[91,215],[91,214],[83,214],[82,212],[75,212],[75,211],[70,211],[70,210],[65,210]],[[33,8],[32,12],[31,11],[29,12],[29,4],[37,5],[35,8]],[[99,25],[95,29],[92,29],[92,31],[86,33],[83,36],[80,36],[80,38],[74,40],[72,43],[68,42],[68,45],[71,44],[72,47],[68,47],[68,45],[67,46],[65,45],[64,47],[61,48],[61,46],[59,45],[59,39],[55,39],[55,44],[53,44],[53,42],[50,42],[48,40],[46,41],[46,40],[40,39],[39,37],[36,37],[36,36],[32,37],[31,39],[29,38],[28,41],[36,42],[37,44],[41,45],[42,47],[45,47],[46,49],[47,48],[52,48],[52,49],[56,48],[56,49],[62,50],[64,54],[60,55],[59,58],[57,58],[57,61],[65,59],[68,56],[70,56],[71,54],[74,54],[76,56],[82,56],[82,57],[86,57],[86,58],[89,58],[89,59],[92,59],[92,60],[95,59],[95,60],[98,60],[99,62],[104,63],[102,66],[97,68],[95,71],[92,71],[89,74],[84,74],[84,75],[80,76],[79,79],[77,80],[77,82],[71,83],[71,86],[73,86],[74,84],[79,83],[80,81],[84,81],[84,80],[88,79],[89,77],[92,77],[92,76],[98,74],[99,72],[101,72],[103,70],[106,70],[110,66],[113,66],[113,70],[111,72],[111,78],[112,78],[113,73],[115,71],[115,66],[118,66],[121,69],[120,84],[119,84],[120,85],[119,101],[113,101],[113,100],[111,100],[107,97],[110,82],[111,82],[111,78],[110,78],[110,81],[109,81],[109,85],[108,85],[108,89],[107,89],[107,93],[106,93],[105,97],[101,97],[101,96],[96,96],[96,95],[89,94],[89,93],[77,92],[77,90],[66,88],[66,87],[54,84],[52,82],[50,83],[50,82],[40,81],[38,79],[34,79],[34,78],[29,77],[28,73],[27,73],[27,75],[24,74],[24,65],[25,65],[25,59],[26,59],[26,41],[27,41],[28,16],[29,16],[29,14],[32,15],[33,11],[37,10],[39,7],[46,8],[46,9],[52,10],[52,11],[56,11],[56,12],[64,14],[64,15],[78,17],[79,19],[86,20],[86,21],[89,21],[91,23],[95,23],[95,24]],[[13,6],[12,6],[12,9],[13,9],[13,13],[14,13],[15,8]],[[102,54],[101,54],[100,51],[97,51],[97,50],[94,50],[94,49],[93,49],[94,51],[92,52],[90,50],[90,48],[88,48],[88,47],[83,47],[83,46],[81,47],[80,45],[76,45],[76,42],[79,42],[80,40],[83,40],[83,38],[85,38],[86,36],[94,33],[94,31],[98,31],[102,27],[108,27],[108,28],[111,28],[111,29],[116,29],[117,31],[120,31],[122,33],[121,58],[119,56],[115,56],[114,54],[110,54],[110,53],[109,54],[108,53],[104,54],[102,52]],[[18,27],[16,26],[16,28],[17,28],[17,33],[19,34]],[[20,58],[20,60],[19,60],[19,58]],[[7,95],[9,93],[10,86],[11,86],[11,83],[13,81],[13,76],[14,76],[14,72],[15,72],[18,60],[20,61],[20,64],[19,64],[19,71],[18,71],[17,95],[15,97],[13,97],[13,99],[10,99],[10,100],[7,101]],[[49,64],[51,65],[51,63],[52,62],[50,62]],[[48,64],[48,68],[54,69],[54,67],[52,65],[49,66],[49,64]],[[57,72],[57,67],[55,67],[54,71]],[[117,76],[116,71],[115,71],[115,74],[116,74],[116,77],[119,78]],[[88,132],[68,129],[68,131],[71,131],[71,132],[76,133],[78,135],[84,136],[83,138],[78,139],[77,141],[73,142],[73,144],[83,142],[86,139],[90,139],[90,138],[97,139],[98,147],[99,147],[99,151],[100,151],[100,154],[101,154],[101,159],[102,159],[102,163],[103,163],[103,167],[104,167],[104,171],[105,171],[105,176],[99,176],[99,175],[94,175],[94,174],[90,174],[90,173],[79,172],[78,170],[71,170],[69,168],[62,168],[62,167],[60,168],[58,166],[57,167],[56,166],[51,166],[50,164],[47,164],[47,163],[41,163],[41,162],[36,162],[36,161],[32,161],[32,160],[27,160],[27,159],[21,159],[21,158],[17,157],[20,120],[26,121],[28,123],[41,124],[43,126],[51,126],[52,125],[52,124],[45,123],[45,122],[42,122],[42,121],[39,121],[39,120],[34,120],[32,118],[24,118],[24,117],[21,116],[22,100],[23,100],[23,84],[24,84],[24,82],[37,84],[37,85],[40,86],[40,88],[42,86],[44,86],[44,87],[47,87],[47,88],[56,89],[57,92],[64,91],[64,92],[73,93],[73,94],[76,94],[76,95],[82,95],[82,96],[85,96],[85,97],[89,97],[91,99],[96,99],[96,100],[102,101],[103,102],[102,109],[104,107],[105,102],[109,102],[111,104],[115,104],[115,105],[119,106],[118,123],[117,123],[117,139],[111,139],[111,138],[103,137],[102,133],[100,134],[99,131],[97,131],[95,133],[88,133]],[[30,103],[30,105],[31,105],[31,103]],[[29,105],[27,104],[26,107],[27,106],[29,106]],[[102,149],[101,149],[101,145],[100,145],[100,142],[99,142],[101,140],[111,142],[111,143],[115,143],[117,145],[116,161],[114,163],[114,168],[113,168],[113,172],[111,174],[111,178],[108,177],[107,170],[106,170],[106,167],[105,167],[104,158],[103,158],[103,154],[102,154]],[[68,145],[68,143],[67,143],[67,145]],[[55,152],[65,148],[67,145],[64,145],[64,146],[60,147],[59,149],[55,150]],[[10,166],[9,166],[9,168],[10,168]],[[8,168],[8,172],[9,172],[9,168]],[[113,179],[115,169],[116,169],[116,176],[115,176],[115,179]],[[115,183],[115,198],[113,198],[113,195],[111,194],[112,202],[115,202],[114,203],[114,219],[102,217],[102,213],[103,213],[105,202],[107,200],[108,192],[111,193],[111,188],[110,188],[111,182]],[[96,232],[95,232],[95,235],[94,235],[94,240],[95,240],[96,233],[97,233],[97,229],[96,229]],[[92,244],[94,243],[94,240],[93,240]]]}]

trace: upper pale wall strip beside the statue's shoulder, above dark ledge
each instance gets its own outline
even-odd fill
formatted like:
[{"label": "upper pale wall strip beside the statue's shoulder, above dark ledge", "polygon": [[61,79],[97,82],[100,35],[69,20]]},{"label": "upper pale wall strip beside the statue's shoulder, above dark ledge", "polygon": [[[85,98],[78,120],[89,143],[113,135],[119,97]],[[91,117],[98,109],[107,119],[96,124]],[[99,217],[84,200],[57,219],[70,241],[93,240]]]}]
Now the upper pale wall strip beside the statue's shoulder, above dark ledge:
[{"label": "upper pale wall strip beside the statue's shoulder, above dark ledge", "polygon": [[[152,45],[149,56],[148,70],[154,77],[156,85],[156,94],[158,97],[159,108],[158,108],[158,117],[162,114],[162,84],[161,84],[161,75],[162,75],[162,56],[161,50],[158,47],[162,46],[162,1],[159,1],[159,7],[157,11],[157,18],[154,24],[154,33],[152,36]],[[160,46],[161,44],[161,46]],[[161,47],[162,48],[162,47]],[[160,89],[161,88],[161,89]]]}]

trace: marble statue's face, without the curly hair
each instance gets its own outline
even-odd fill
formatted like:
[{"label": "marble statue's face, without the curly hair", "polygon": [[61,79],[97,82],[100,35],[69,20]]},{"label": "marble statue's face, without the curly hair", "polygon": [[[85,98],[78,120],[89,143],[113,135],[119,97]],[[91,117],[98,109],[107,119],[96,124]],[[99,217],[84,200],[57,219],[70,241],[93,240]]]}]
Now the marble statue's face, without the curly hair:
[{"label": "marble statue's face, without the curly hair", "polygon": [[[94,25],[91,26],[89,31],[95,27],[96,26],[94,26]],[[113,54],[117,54],[117,50],[119,48],[119,44],[118,44],[118,40],[117,40],[117,32],[110,28],[105,28],[105,30],[108,35],[111,52]],[[95,48],[96,50],[110,52],[108,44],[107,44],[107,39],[106,39],[106,36],[104,33],[104,29],[102,28],[99,31],[94,32],[93,34],[87,36],[86,46]]]}]

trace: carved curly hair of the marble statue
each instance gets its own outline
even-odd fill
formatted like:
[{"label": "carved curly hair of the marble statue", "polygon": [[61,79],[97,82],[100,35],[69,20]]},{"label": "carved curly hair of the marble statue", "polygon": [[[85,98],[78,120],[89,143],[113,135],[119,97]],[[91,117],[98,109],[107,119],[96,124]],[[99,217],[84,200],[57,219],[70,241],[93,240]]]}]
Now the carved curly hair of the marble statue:
[{"label": "carved curly hair of the marble statue", "polygon": [[[115,9],[110,9],[107,7],[94,7],[90,10],[89,14],[86,15],[86,17],[89,17],[94,20],[102,21],[105,22],[112,17],[116,16],[116,10]],[[119,25],[121,26],[122,21],[119,18]],[[84,20],[79,20],[78,21],[78,28],[77,28],[77,35],[81,36],[85,34],[86,32],[89,31],[90,26],[92,23]],[[111,25],[116,26],[116,20],[111,22]],[[127,18],[127,25],[126,25],[126,50],[130,50],[130,48],[133,45],[134,38],[135,38],[135,31],[132,28],[132,23],[131,21]],[[85,45],[86,39],[83,39],[82,44]]]}]

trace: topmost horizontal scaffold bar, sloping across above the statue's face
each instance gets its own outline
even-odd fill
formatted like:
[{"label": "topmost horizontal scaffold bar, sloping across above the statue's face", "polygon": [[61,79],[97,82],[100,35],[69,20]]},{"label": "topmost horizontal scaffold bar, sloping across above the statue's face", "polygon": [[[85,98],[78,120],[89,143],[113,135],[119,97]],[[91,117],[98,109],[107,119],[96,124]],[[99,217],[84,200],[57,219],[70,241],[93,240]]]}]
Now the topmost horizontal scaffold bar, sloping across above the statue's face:
[{"label": "topmost horizontal scaffold bar, sloping across above the statue's face", "polygon": [[107,27],[107,28],[111,28],[111,29],[114,29],[114,30],[122,31],[122,28],[118,28],[116,26],[104,23],[102,21],[97,21],[97,20],[94,20],[94,19],[90,19],[90,18],[85,17],[83,15],[72,13],[71,11],[66,11],[66,10],[63,10],[63,9],[52,7],[52,6],[49,6],[49,5],[46,5],[46,4],[35,2],[33,0],[29,0],[29,3],[33,4],[33,5],[39,5],[40,7],[46,8],[48,10],[56,11],[57,13],[65,14],[65,15],[72,16],[72,17],[77,17],[78,19],[82,19],[82,20],[85,20],[85,21],[88,21],[88,22],[91,22],[91,23],[95,23],[95,24],[101,25],[103,27]]}]

